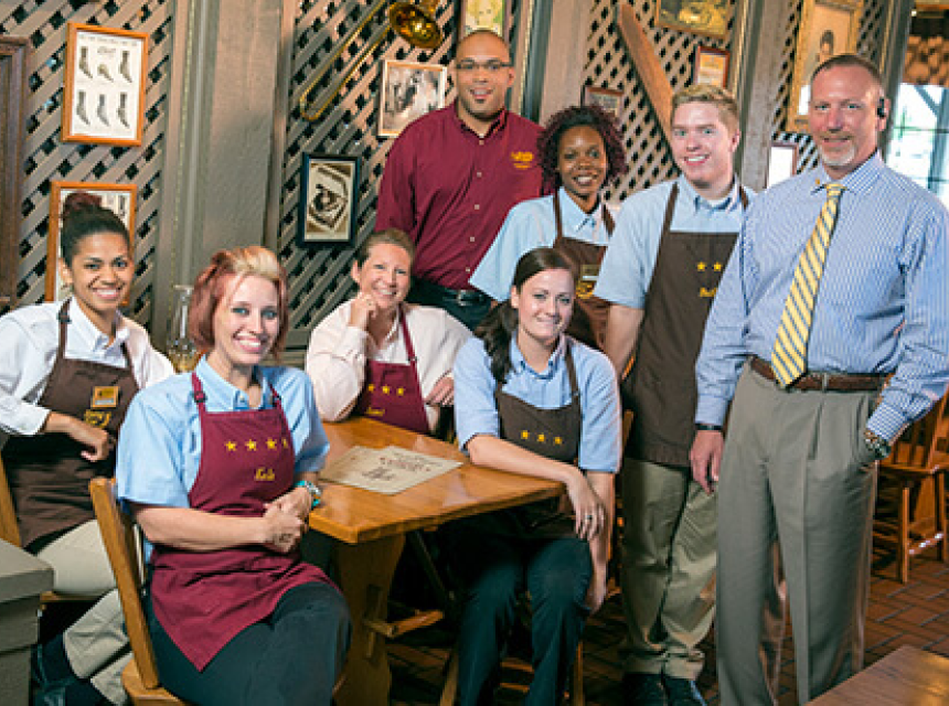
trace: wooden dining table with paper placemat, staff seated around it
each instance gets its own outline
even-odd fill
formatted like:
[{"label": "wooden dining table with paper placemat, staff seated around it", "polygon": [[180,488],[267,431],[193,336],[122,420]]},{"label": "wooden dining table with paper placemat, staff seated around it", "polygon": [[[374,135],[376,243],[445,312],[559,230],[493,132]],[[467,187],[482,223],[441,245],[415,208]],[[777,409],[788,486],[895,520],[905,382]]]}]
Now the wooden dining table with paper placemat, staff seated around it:
[{"label": "wooden dining table with paper placemat, staff seated around it", "polygon": [[386,605],[405,534],[451,520],[514,507],[564,492],[562,483],[495,471],[468,462],[457,447],[365,417],[324,425],[329,462],[355,446],[397,446],[461,466],[395,494],[323,483],[322,503],[310,528],[338,539],[335,559],[353,623],[340,705],[388,703],[392,675],[386,657]]}]

